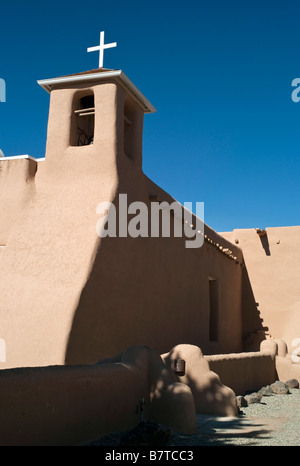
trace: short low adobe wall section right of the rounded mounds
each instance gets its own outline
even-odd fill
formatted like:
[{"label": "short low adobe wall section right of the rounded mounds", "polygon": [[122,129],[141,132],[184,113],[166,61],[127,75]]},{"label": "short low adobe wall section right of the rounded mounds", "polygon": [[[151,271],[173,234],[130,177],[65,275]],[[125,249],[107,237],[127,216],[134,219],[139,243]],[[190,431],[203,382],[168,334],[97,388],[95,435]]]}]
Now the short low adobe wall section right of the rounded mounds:
[{"label": "short low adobe wall section right of the rounded mounds", "polygon": [[257,352],[218,354],[205,356],[205,359],[223,384],[230,387],[236,395],[243,395],[248,390],[258,390],[275,382],[278,378],[276,354],[277,344],[266,340]]}]

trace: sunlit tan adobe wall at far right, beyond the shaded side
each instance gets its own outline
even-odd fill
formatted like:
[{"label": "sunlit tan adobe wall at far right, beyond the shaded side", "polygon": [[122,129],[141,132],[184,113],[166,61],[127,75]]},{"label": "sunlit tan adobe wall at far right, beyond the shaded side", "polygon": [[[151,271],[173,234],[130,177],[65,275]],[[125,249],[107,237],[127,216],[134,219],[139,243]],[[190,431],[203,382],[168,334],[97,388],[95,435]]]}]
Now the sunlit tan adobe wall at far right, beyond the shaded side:
[{"label": "sunlit tan adobe wall at far right, beyond the shaded side", "polygon": [[[255,229],[234,230],[222,236],[238,242],[243,252],[266,333],[284,340],[291,352],[295,349],[293,340],[300,338],[300,226],[266,228],[265,231],[262,237]],[[244,305],[247,309],[246,300],[243,308]],[[244,336],[255,330],[251,319],[245,316]]]}]

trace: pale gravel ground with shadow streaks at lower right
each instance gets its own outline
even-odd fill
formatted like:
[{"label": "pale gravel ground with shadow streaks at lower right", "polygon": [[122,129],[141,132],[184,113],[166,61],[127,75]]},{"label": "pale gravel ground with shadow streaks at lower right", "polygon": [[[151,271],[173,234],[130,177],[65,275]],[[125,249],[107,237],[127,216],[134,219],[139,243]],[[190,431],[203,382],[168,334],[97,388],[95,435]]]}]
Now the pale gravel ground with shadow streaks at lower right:
[{"label": "pale gravel ground with shadow streaks at lower right", "polygon": [[263,396],[237,418],[198,417],[198,433],[173,435],[171,445],[300,446],[300,390]]}]

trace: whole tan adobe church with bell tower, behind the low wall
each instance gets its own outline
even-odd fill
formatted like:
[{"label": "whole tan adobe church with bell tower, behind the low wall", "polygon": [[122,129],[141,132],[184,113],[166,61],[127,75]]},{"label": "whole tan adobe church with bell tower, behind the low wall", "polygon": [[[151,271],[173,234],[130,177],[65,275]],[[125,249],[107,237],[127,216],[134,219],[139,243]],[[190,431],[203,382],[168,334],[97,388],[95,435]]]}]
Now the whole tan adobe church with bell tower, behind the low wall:
[{"label": "whole tan adobe church with bell tower, behind the low wall", "polygon": [[184,344],[238,391],[214,355],[255,358],[270,341],[268,358],[297,372],[300,227],[204,225],[199,248],[174,234],[99,237],[99,203],[175,201],[143,172],[143,119],[155,108],[121,70],[38,83],[50,94],[45,157],[0,159],[0,376]]}]

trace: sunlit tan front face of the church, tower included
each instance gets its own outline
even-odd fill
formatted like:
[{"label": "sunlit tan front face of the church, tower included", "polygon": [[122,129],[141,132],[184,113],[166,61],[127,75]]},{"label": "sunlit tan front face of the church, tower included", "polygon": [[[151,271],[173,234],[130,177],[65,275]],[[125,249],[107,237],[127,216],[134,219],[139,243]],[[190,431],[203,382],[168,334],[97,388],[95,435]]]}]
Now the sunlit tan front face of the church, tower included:
[{"label": "sunlit tan front face of the church, tower included", "polygon": [[1,225],[10,222],[0,259],[0,338],[6,343],[0,368],[65,362],[74,312],[100,242],[96,207],[113,199],[118,182],[116,93],[114,85],[97,87],[96,99],[105,104],[99,106],[104,133],[80,148],[60,137],[70,122],[73,91],[53,91],[46,158],[31,185],[28,160],[1,162],[3,174],[9,167],[3,189],[12,199],[15,192],[18,205],[0,198]]}]

